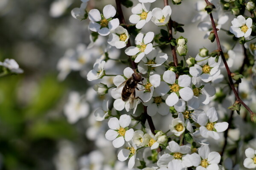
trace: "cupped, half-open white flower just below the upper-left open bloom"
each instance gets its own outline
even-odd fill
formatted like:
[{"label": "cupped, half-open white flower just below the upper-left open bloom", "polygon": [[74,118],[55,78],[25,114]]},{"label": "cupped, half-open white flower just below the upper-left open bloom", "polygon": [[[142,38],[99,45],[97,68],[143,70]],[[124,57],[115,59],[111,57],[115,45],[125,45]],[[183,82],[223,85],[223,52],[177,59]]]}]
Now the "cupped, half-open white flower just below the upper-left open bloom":
[{"label": "cupped, half-open white flower just below the upper-left open bloom", "polygon": [[118,26],[114,33],[111,33],[108,38],[108,43],[116,48],[124,48],[129,39],[128,31],[122,26]]}]

